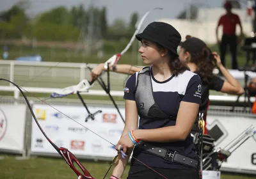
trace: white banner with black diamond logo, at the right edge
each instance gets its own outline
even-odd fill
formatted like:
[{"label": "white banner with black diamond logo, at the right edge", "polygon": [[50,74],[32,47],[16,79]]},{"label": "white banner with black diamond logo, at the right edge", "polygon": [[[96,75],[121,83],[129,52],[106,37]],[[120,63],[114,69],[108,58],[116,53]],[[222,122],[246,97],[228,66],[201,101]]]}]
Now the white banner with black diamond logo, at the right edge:
[{"label": "white banner with black diamond logo, at the right edge", "polygon": [[[237,139],[239,134],[251,125],[256,127],[255,118],[207,115],[207,129],[209,130],[209,134],[216,139],[216,148],[225,148],[228,143]],[[221,167],[241,171],[252,170],[256,172],[256,134],[254,137],[250,137],[241,144],[241,146],[228,157],[227,162],[223,162]]]}]

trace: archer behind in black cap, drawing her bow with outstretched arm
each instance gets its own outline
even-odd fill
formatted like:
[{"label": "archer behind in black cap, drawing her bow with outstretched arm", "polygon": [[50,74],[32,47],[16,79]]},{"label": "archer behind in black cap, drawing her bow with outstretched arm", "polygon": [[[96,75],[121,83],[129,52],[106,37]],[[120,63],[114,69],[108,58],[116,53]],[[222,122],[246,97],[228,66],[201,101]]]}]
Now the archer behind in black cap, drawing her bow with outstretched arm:
[{"label": "archer behind in black cap, drawing her bow with outstretched arm", "polygon": [[[228,72],[221,64],[220,56],[216,52],[211,52],[209,47],[199,38],[186,36],[186,41],[180,43],[179,59],[189,66],[191,72],[195,72],[202,79],[202,100],[199,112],[204,113],[205,134],[206,114],[209,107],[209,90],[221,91],[232,95],[243,95],[244,89],[239,82]],[[218,68],[225,77],[225,81],[212,74],[214,68]],[[123,74],[134,74],[142,68],[132,65],[116,65],[116,68],[110,70]],[[97,65],[91,73],[92,78],[98,77],[104,69],[104,64]],[[192,129],[192,133],[199,132],[198,121]]]}]

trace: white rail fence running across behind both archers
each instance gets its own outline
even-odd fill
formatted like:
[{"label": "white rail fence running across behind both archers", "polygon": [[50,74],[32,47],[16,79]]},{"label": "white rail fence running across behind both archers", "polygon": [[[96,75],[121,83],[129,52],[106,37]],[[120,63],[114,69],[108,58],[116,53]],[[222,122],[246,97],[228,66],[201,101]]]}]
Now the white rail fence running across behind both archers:
[{"label": "white rail fence running across behind both archers", "polygon": [[[89,64],[91,68],[97,64]],[[230,74],[236,77],[243,84],[244,72],[239,70],[229,70]],[[218,73],[218,70],[214,70]],[[249,77],[256,77],[255,72],[246,72]],[[28,92],[33,93],[49,93],[78,84],[82,79],[90,79],[90,70],[85,63],[60,63],[60,62],[28,62],[1,60],[0,61],[0,77],[9,79],[19,84]],[[122,97],[124,95],[124,83],[128,75],[116,74],[110,72],[109,81],[111,95]],[[107,75],[103,75],[102,79],[107,82]],[[93,89],[83,95],[107,95],[97,82],[93,84]],[[19,99],[19,89],[12,86],[6,81],[0,81],[0,91],[12,91],[13,97]],[[210,100],[235,102],[234,95],[210,95]],[[251,101],[255,98],[251,97]],[[239,98],[240,102],[244,101],[244,97]]]}]

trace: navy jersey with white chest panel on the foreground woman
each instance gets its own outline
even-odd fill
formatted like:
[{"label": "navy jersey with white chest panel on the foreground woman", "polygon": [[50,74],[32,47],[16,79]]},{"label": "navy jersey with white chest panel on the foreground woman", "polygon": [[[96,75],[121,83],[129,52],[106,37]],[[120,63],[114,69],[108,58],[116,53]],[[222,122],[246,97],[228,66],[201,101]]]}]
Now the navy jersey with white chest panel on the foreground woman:
[{"label": "navy jersey with white chest panel on the foreground woman", "polygon": [[[200,77],[190,71],[185,71],[179,75],[172,75],[169,79],[163,82],[159,82],[154,78],[152,74],[152,67],[150,67],[151,81],[152,81],[152,90],[153,96],[156,104],[159,108],[166,113],[168,116],[177,116],[179,111],[180,102],[191,102],[200,104],[201,102],[201,90],[202,90],[202,81]],[[136,92],[136,81],[138,77],[138,72],[131,75],[128,79],[125,90],[124,90],[124,99],[125,100],[135,100]],[[186,120],[186,119],[183,119]],[[152,129],[152,128],[161,128],[175,125],[176,120],[171,119],[148,119],[140,118],[139,128],[140,129]],[[168,148],[172,152],[179,152],[188,157],[197,158],[195,153],[195,146],[193,143],[193,138],[189,135],[184,141],[176,141],[172,143],[150,143],[154,146],[159,146],[163,148]],[[141,150],[138,147],[134,148],[133,156],[138,160],[141,160],[148,166],[152,167],[163,167],[163,168],[188,168],[186,166],[168,162],[156,155],[152,155]],[[137,160],[131,160],[132,164],[139,164]]]}]

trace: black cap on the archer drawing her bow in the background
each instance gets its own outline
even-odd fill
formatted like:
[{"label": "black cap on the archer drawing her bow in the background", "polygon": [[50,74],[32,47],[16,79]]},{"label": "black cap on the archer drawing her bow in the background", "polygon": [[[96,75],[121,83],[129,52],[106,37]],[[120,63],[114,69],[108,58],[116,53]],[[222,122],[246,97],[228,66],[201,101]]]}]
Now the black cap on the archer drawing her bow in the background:
[{"label": "black cap on the archer drawing her bow in the background", "polygon": [[180,43],[180,47],[183,47],[191,54],[200,54],[202,49],[206,47],[206,43],[199,38],[191,37]]}]

